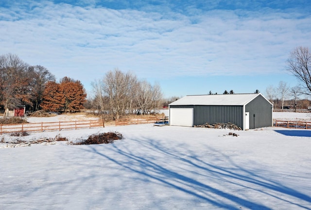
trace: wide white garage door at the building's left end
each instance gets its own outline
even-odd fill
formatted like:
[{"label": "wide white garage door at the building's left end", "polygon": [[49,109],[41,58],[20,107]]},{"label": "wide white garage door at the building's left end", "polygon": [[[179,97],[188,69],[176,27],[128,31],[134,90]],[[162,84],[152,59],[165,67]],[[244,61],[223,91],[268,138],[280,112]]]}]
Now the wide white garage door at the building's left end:
[{"label": "wide white garage door at the building's left end", "polygon": [[193,108],[170,108],[171,126],[193,126]]}]

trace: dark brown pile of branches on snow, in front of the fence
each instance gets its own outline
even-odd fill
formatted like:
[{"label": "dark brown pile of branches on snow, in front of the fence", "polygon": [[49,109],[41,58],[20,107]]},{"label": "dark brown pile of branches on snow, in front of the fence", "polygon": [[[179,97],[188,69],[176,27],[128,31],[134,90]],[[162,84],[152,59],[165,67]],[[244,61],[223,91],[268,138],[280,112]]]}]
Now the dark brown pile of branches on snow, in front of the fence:
[{"label": "dark brown pile of branches on snow, in front of the fence", "polygon": [[99,145],[99,144],[112,144],[115,140],[123,139],[119,132],[107,132],[92,134],[86,140],[75,143],[74,145]]}]

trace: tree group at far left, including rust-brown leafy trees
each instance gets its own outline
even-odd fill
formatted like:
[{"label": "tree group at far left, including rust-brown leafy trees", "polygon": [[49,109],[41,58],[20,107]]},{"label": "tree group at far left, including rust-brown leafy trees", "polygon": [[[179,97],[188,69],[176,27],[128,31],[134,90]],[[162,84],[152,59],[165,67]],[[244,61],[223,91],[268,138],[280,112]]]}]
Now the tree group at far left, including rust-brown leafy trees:
[{"label": "tree group at far left, including rust-brown leafy trees", "polygon": [[59,83],[41,65],[28,65],[17,55],[0,55],[0,108],[25,105],[30,111],[75,112],[83,108],[86,93],[80,81],[64,77]]}]

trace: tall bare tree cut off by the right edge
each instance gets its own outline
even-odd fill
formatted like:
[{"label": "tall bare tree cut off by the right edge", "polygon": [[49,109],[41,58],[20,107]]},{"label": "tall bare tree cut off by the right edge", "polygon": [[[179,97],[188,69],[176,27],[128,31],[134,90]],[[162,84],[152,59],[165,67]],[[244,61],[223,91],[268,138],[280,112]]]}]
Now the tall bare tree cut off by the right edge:
[{"label": "tall bare tree cut off by the right edge", "polygon": [[304,94],[311,95],[311,51],[306,47],[295,48],[288,60],[287,70],[300,82]]}]

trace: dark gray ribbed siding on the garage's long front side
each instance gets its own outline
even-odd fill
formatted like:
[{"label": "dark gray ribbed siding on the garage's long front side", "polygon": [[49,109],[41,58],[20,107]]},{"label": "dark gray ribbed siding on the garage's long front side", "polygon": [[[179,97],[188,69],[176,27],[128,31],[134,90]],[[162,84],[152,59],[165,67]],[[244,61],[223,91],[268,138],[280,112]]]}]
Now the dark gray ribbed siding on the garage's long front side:
[{"label": "dark gray ribbed siding on the garage's long front side", "polygon": [[170,108],[193,108],[193,125],[230,122],[243,129],[243,106],[171,105]]}]

